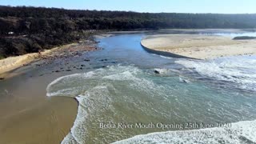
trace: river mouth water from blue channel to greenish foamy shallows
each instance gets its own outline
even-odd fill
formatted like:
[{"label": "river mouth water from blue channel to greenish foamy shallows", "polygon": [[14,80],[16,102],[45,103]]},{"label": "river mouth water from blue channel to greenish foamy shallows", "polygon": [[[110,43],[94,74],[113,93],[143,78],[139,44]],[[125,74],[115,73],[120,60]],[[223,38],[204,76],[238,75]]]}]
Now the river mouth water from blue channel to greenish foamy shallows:
[{"label": "river mouth water from blue channel to greenish foamy shallows", "polygon": [[[110,143],[138,134],[256,119],[255,57],[166,58],[143,50],[143,36],[98,39],[104,50],[90,57],[109,66],[67,75],[47,86],[48,96],[79,102],[74,126],[63,143]],[[195,122],[205,126],[186,127]],[[140,123],[142,127],[136,127]]]}]

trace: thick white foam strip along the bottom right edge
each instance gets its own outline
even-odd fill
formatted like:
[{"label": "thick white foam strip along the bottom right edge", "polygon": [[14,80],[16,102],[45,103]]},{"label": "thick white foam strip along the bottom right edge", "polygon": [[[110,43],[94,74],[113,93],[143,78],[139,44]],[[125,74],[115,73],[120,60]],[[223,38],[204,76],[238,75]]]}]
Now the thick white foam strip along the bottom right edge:
[{"label": "thick white foam strip along the bottom right edge", "polygon": [[230,127],[215,127],[202,130],[167,131],[137,135],[114,144],[128,143],[255,143],[256,121],[232,123]]}]

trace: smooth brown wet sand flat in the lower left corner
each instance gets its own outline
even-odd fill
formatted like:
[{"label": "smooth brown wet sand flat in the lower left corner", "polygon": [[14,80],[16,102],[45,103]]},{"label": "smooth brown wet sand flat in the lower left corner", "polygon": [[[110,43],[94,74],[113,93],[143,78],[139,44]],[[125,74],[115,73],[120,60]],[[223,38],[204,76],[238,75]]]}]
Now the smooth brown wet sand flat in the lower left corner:
[{"label": "smooth brown wet sand flat in the lower left corner", "polygon": [[47,98],[45,89],[53,79],[23,76],[1,82],[0,143],[59,143],[68,134],[77,102]]}]

